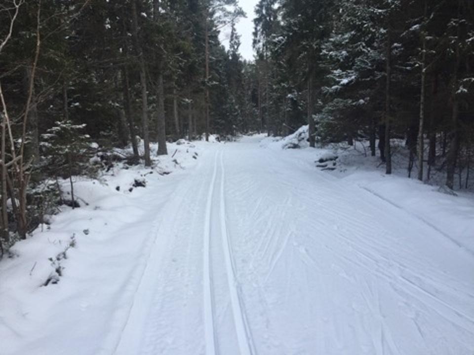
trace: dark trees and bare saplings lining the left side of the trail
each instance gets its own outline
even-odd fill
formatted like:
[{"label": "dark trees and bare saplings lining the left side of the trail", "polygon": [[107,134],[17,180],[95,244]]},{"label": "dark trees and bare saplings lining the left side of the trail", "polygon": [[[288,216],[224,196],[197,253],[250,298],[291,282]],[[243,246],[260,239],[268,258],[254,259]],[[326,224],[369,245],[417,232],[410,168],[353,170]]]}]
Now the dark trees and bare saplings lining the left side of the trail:
[{"label": "dark trees and bare saplings lining the left side of the trail", "polygon": [[98,149],[150,166],[152,142],[246,130],[243,15],[235,0],[0,0],[0,245],[38,224],[38,183],[86,173]]}]

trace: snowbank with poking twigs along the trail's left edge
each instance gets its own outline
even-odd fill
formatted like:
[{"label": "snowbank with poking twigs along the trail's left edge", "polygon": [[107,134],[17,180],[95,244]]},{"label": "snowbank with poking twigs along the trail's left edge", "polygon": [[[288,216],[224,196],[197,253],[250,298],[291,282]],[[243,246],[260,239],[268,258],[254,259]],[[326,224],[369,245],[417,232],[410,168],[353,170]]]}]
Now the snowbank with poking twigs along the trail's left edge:
[{"label": "snowbank with poking twigs along the trail's left edge", "polygon": [[[156,155],[156,144],[151,150],[152,168],[117,163],[99,179],[75,178],[81,207],[61,206],[50,225],[16,243],[10,257],[1,260],[2,355],[38,354],[39,342],[55,344],[56,354],[74,348],[99,353],[111,325],[125,316],[157,238],[150,230],[159,222],[156,207],[164,206],[202,152],[190,142],[168,144],[166,156]],[[69,194],[69,181],[61,184]],[[76,328],[85,319],[89,328]],[[63,327],[76,329],[74,339],[55,335]]]}]

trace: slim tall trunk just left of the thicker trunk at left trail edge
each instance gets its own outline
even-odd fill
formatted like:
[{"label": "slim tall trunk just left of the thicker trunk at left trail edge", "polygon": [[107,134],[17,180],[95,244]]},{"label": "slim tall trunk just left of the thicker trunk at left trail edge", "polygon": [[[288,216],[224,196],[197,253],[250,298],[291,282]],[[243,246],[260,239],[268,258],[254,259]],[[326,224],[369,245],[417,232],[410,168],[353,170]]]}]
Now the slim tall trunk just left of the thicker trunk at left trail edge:
[{"label": "slim tall trunk just left of the thicker trunk at left trail edge", "polygon": [[151,166],[152,160],[150,157],[150,131],[148,129],[148,91],[147,91],[147,73],[145,67],[145,58],[143,50],[140,45],[140,39],[138,38],[138,13],[137,13],[137,1],[132,0],[132,16],[133,16],[133,37],[135,40],[135,47],[138,55],[139,70],[140,70],[140,86],[142,89],[142,131],[143,131],[143,142],[145,150],[145,166]]}]

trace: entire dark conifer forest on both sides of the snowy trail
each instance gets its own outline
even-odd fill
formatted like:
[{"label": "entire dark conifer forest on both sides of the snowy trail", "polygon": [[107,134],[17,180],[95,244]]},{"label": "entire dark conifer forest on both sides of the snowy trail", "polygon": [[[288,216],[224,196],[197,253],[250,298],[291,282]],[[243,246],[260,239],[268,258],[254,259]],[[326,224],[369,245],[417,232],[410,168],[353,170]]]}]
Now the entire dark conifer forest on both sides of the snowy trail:
[{"label": "entire dark conifer forest on both sides of the snowy trail", "polygon": [[313,147],[367,141],[391,174],[402,142],[408,175],[471,186],[472,0],[260,0],[255,14],[245,61],[235,0],[1,0],[0,253],[75,206],[58,178],[93,175],[117,146],[150,166],[151,142],[162,155],[308,124]]}]

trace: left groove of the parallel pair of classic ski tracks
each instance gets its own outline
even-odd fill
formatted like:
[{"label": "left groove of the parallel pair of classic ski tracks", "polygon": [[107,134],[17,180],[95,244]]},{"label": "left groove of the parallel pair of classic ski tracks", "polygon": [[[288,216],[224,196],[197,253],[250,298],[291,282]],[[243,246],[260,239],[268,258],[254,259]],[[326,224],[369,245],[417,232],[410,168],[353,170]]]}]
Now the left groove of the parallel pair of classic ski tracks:
[{"label": "left groove of the parallel pair of classic ski tracks", "polygon": [[210,268],[210,239],[211,239],[211,210],[212,210],[212,193],[216,184],[217,176],[217,155],[214,158],[214,172],[212,173],[211,183],[209,184],[209,192],[207,193],[206,216],[204,221],[204,248],[203,248],[203,284],[204,284],[204,335],[206,340],[206,355],[216,354],[216,342],[214,331],[214,312],[212,297],[212,273]]}]

